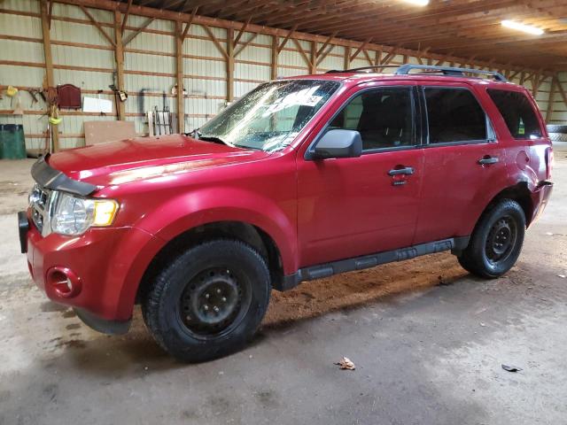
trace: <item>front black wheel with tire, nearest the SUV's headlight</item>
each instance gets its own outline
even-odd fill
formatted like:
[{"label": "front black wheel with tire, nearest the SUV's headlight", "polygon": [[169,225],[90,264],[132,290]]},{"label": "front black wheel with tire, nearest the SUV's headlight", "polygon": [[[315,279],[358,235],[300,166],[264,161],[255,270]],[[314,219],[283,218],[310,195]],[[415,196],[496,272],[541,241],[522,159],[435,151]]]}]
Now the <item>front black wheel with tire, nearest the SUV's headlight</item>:
[{"label": "front black wheel with tire, nearest the SUV's headlight", "polygon": [[165,267],[146,291],[142,312],[158,344],[176,359],[216,359],[250,340],[270,290],[268,267],[257,251],[217,239]]}]

